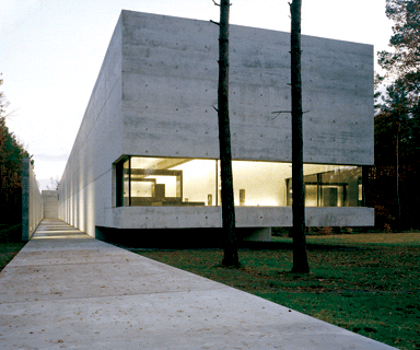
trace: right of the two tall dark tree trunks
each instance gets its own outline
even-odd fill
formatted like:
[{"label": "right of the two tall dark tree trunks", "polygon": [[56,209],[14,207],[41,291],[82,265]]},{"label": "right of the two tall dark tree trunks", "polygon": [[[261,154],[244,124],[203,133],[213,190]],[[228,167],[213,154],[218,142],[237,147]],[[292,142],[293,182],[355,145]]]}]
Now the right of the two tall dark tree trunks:
[{"label": "right of the two tall dark tree trunks", "polygon": [[293,268],[307,273],[305,242],[305,202],[303,183],[302,78],[301,78],[301,11],[302,0],[291,4],[291,77],[292,77],[292,184],[293,184]]}]

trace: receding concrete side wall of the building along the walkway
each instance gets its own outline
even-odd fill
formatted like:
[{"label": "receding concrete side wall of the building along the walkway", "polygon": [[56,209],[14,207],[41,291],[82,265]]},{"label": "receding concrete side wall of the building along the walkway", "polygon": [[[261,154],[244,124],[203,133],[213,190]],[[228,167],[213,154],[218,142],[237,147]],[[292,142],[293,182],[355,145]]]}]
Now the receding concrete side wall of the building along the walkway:
[{"label": "receding concrete side wall of the building along the walkway", "polygon": [[112,164],[122,154],[121,32],[120,19],[59,186],[59,218],[92,236],[112,207]]}]

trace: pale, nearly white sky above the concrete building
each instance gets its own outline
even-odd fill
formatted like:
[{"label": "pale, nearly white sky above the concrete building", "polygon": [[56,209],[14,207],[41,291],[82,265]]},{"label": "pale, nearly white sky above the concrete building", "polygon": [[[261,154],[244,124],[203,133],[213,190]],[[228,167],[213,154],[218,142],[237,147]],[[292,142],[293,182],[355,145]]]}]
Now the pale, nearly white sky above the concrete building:
[{"label": "pale, nearly white sky above the concrete building", "polygon": [[[231,23],[290,32],[288,1],[232,0]],[[61,178],[121,9],[219,20],[212,0],[0,0],[7,125],[34,154],[42,189]],[[377,51],[392,25],[385,0],[303,0],[302,34]]]}]

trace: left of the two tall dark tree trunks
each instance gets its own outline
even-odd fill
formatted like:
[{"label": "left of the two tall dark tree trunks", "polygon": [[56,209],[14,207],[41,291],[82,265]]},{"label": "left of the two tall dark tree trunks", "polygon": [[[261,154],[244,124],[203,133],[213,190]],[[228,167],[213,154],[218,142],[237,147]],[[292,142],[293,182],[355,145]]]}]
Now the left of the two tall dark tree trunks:
[{"label": "left of the two tall dark tree trunks", "polygon": [[218,117],[222,179],[222,224],[224,231],[224,257],[222,264],[225,266],[238,266],[232,179],[231,130],[229,121],[229,0],[221,0],[219,23]]}]

